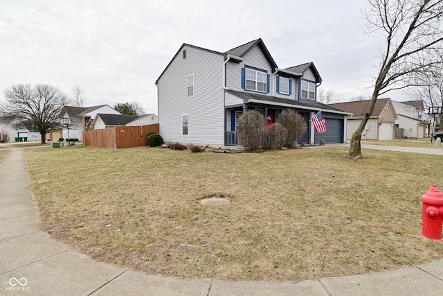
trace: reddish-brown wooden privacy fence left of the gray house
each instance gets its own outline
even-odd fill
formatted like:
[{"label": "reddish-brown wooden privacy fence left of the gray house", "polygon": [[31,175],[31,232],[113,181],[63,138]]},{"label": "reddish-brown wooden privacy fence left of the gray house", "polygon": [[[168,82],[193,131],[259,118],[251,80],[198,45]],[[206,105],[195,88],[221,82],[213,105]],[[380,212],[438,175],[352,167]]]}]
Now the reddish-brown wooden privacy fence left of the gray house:
[{"label": "reddish-brown wooden privacy fence left of the gray house", "polygon": [[83,132],[83,145],[97,148],[132,148],[147,146],[148,132],[159,133],[159,123],[143,126],[112,126]]}]

